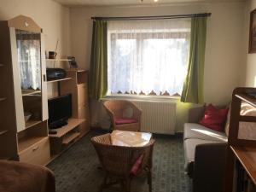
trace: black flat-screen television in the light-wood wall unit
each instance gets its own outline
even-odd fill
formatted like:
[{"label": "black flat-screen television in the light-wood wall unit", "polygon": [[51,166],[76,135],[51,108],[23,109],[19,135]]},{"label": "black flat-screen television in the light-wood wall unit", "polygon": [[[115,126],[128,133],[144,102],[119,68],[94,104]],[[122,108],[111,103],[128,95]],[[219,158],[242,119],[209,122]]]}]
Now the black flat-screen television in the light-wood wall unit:
[{"label": "black flat-screen television in the light-wood wall unit", "polygon": [[72,95],[58,96],[48,100],[49,129],[57,129],[67,125],[67,119],[72,116]]}]

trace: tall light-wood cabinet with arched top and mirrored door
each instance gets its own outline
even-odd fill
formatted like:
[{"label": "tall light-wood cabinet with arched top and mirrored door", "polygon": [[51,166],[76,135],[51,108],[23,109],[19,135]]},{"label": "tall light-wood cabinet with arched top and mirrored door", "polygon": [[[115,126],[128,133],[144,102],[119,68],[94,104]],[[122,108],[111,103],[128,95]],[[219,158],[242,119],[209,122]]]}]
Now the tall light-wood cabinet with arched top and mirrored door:
[{"label": "tall light-wood cabinet with arched top and mirrored door", "polygon": [[[0,131],[0,159],[44,165],[44,162],[50,159],[50,151],[47,82],[43,79],[46,67],[42,59],[44,58],[42,29],[31,18],[20,15],[12,20],[1,20],[0,31],[0,39],[2,39],[0,41],[0,125],[6,129]],[[23,31],[26,31],[26,34]],[[37,41],[38,44],[24,42],[26,39],[24,35]],[[24,49],[23,44],[26,44],[28,50],[32,46],[38,46],[35,54],[41,59],[26,61],[26,58],[22,58],[20,52],[23,50],[17,50]],[[21,69],[26,73],[20,73]],[[22,86],[25,87],[24,75],[27,73],[32,77],[36,75],[35,86],[38,90],[22,89]],[[26,85],[32,87],[34,82],[28,78]],[[32,113],[32,118],[27,122],[24,118],[25,113]],[[35,148],[36,146],[38,147]]]}]

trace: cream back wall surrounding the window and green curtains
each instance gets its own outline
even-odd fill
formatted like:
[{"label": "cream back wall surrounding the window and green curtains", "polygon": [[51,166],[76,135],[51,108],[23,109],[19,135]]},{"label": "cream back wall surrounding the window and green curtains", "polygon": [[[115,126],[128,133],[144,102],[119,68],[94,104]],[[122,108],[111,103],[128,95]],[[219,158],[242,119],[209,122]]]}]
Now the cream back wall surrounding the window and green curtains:
[{"label": "cream back wall surrounding the window and green curtains", "polygon": [[[205,62],[205,102],[226,104],[232,90],[241,84],[241,56],[244,49],[243,21],[245,3],[193,3],[156,7],[84,7],[70,10],[72,55],[79,67],[90,68],[92,16],[180,15],[211,12],[207,25]],[[174,100],[174,102],[177,102]],[[188,108],[193,105],[177,102],[177,131],[183,131]],[[92,121],[104,119],[99,103],[92,104]]]}]

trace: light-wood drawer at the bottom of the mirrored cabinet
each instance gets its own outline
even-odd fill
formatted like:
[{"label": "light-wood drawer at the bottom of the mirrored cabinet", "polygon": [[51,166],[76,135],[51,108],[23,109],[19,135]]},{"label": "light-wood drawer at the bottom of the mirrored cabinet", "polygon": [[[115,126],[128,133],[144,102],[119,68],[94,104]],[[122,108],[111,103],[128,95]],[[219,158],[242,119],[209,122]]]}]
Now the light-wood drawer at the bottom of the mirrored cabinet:
[{"label": "light-wood drawer at the bottom of the mirrored cabinet", "polygon": [[20,161],[37,165],[45,165],[49,162],[49,138],[46,137],[40,142],[33,144],[20,152]]}]

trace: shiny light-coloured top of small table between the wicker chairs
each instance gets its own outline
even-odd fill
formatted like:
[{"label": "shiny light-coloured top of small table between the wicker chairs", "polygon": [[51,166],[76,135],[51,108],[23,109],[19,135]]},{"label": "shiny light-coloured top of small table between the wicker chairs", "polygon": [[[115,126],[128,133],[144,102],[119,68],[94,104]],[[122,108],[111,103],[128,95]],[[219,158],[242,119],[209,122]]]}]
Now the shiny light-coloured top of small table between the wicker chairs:
[{"label": "shiny light-coloured top of small table between the wicker chairs", "polygon": [[148,132],[118,131],[111,133],[111,143],[126,147],[143,147],[148,144],[152,137]]}]

